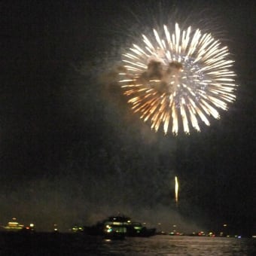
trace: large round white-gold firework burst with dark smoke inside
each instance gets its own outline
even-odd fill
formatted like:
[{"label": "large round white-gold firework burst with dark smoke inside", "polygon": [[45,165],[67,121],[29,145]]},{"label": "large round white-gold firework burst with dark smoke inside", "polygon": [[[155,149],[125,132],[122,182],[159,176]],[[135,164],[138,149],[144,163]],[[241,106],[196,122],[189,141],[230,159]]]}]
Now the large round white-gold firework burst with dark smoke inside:
[{"label": "large round white-gold firework burst with dark smoke inside", "polygon": [[209,126],[209,117],[219,118],[218,108],[227,110],[236,98],[230,53],[200,29],[181,31],[176,23],[172,35],[167,26],[153,31],[153,41],[142,35],[143,46],[123,54],[124,95],[156,132],[163,126],[164,133],[178,134],[181,123],[184,133],[200,131],[201,121]]}]

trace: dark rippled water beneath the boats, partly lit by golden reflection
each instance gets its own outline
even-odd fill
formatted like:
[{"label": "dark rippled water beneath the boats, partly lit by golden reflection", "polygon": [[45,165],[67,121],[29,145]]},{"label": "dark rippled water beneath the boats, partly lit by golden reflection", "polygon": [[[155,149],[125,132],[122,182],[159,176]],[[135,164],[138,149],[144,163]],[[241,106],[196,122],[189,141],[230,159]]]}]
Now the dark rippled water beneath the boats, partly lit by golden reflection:
[{"label": "dark rippled water beneath the boats, partly lit by golden reflection", "polygon": [[256,239],[152,236],[112,241],[82,234],[1,233],[0,255],[256,255]]}]

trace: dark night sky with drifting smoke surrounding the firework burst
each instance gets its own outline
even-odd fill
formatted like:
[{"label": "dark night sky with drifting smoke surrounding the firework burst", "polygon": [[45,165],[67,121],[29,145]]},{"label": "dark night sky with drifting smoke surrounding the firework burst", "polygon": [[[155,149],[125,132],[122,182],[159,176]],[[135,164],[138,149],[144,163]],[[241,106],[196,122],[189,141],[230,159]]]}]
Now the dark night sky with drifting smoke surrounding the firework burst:
[{"label": "dark night sky with drifting smoke surrounding the firework burst", "polygon": [[[0,224],[67,230],[120,212],[166,230],[227,223],[256,233],[256,5],[188,3],[0,4]],[[129,43],[172,14],[213,29],[236,61],[236,102],[190,136],[151,131],[111,73]]]}]

